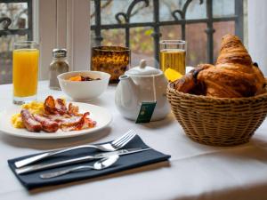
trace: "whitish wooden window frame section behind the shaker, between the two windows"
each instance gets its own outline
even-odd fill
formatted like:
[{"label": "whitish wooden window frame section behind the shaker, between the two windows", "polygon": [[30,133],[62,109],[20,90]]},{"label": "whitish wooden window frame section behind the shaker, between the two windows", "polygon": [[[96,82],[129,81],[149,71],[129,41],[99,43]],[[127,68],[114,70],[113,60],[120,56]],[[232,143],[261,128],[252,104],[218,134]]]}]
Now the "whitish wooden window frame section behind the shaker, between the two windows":
[{"label": "whitish wooden window frame section behind the shaker, between the two windows", "polygon": [[90,1],[36,0],[33,10],[34,39],[40,44],[39,79],[48,79],[53,48],[67,48],[69,70],[88,70]]}]

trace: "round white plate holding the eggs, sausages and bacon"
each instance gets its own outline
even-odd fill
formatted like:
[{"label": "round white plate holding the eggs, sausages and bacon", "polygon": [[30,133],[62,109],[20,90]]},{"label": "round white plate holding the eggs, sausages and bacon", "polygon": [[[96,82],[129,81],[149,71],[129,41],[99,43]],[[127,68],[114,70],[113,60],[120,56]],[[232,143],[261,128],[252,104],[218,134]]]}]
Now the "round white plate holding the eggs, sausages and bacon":
[{"label": "round white plate holding the eggs, sausages and bacon", "polygon": [[90,129],[81,131],[62,132],[28,132],[27,129],[17,129],[11,124],[11,117],[13,114],[20,113],[21,108],[19,106],[13,106],[6,108],[0,113],[0,132],[4,132],[8,135],[14,135],[22,138],[34,138],[34,139],[58,139],[69,138],[85,135],[91,132],[101,130],[110,124],[112,116],[106,108],[94,106],[86,103],[73,102],[75,106],[79,107],[80,113],[90,112],[90,118],[96,121],[96,126]]}]

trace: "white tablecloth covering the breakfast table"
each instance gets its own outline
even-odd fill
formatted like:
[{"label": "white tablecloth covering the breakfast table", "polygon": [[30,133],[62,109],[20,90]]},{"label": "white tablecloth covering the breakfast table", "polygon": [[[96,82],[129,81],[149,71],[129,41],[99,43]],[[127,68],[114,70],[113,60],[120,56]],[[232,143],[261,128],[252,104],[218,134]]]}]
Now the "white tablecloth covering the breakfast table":
[{"label": "white tablecloth covering the breakfast table", "polygon": [[[93,104],[109,108],[113,122],[101,132],[63,140],[29,140],[0,134],[0,199],[267,199],[267,123],[246,145],[215,148],[188,139],[170,114],[165,120],[134,124],[114,105],[115,86],[109,86]],[[62,92],[40,82],[38,99]],[[12,85],[0,85],[0,110],[12,106]],[[216,125],[216,124],[214,124]],[[139,132],[150,147],[171,155],[170,162],[151,164],[126,172],[27,191],[10,171],[6,160],[38,151],[117,138],[128,129]]]}]

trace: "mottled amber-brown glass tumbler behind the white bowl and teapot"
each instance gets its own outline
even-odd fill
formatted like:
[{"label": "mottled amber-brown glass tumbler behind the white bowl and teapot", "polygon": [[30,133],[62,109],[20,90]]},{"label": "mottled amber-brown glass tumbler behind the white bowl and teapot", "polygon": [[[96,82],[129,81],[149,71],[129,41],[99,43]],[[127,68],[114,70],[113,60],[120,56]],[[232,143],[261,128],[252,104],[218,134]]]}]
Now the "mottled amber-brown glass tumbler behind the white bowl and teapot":
[{"label": "mottled amber-brown glass tumbler behind the white bowl and teapot", "polygon": [[92,49],[91,69],[110,74],[109,83],[117,83],[118,77],[129,68],[130,49],[123,46],[96,46]]}]

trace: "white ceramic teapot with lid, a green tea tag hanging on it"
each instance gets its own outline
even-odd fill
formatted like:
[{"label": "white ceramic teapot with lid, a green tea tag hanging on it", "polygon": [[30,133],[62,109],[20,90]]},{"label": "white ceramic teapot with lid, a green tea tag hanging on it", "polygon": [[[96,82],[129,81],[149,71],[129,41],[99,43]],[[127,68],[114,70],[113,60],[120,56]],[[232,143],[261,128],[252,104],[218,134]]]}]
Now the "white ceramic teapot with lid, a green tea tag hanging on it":
[{"label": "white ceramic teapot with lid, a green tea tag hanging on it", "polygon": [[115,103],[125,118],[136,120],[142,102],[157,101],[150,121],[163,119],[170,112],[166,99],[166,77],[161,70],[147,66],[146,60],[141,60],[140,66],[126,71],[119,80]]}]

